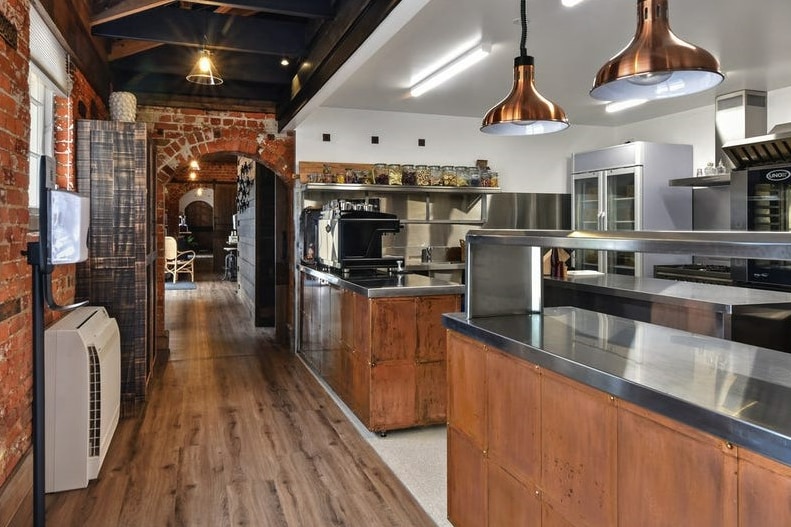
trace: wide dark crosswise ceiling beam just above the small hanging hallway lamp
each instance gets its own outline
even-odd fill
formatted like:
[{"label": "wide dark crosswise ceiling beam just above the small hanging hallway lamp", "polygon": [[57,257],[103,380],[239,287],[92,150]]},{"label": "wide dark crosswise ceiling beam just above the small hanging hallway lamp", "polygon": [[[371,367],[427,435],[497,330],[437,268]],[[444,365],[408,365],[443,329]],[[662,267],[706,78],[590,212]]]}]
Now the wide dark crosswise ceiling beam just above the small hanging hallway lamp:
[{"label": "wide dark crosswise ceiling beam just above the small hanging hallway lamp", "polygon": [[95,36],[297,57],[306,24],[160,8],[93,26]]}]

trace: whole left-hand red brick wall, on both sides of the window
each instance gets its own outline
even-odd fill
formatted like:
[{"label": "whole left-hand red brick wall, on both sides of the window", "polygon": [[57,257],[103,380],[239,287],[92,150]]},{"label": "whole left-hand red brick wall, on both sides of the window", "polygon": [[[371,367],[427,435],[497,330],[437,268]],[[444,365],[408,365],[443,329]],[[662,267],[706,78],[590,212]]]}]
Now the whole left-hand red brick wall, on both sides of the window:
[{"label": "whole left-hand red brick wall, on both sides of the window", "polygon": [[[0,39],[0,487],[30,449],[32,437],[32,282],[22,251],[28,232],[30,99],[28,94],[29,1],[5,0],[0,12],[17,30],[14,49]],[[85,112],[82,115],[81,112]],[[67,116],[106,117],[105,104],[79,71],[69,98],[55,101],[56,180],[74,185],[73,128]],[[74,300],[74,266],[53,272],[58,303]],[[45,323],[62,316],[45,310]]]}]

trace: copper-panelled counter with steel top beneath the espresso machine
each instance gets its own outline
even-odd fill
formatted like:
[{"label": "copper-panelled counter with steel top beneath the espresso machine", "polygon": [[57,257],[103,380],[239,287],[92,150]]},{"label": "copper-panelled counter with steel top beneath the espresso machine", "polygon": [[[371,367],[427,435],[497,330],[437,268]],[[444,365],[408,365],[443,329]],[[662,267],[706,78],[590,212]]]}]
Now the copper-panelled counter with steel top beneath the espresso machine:
[{"label": "copper-panelled counter with steel top beneath the espresso machine", "polygon": [[297,353],[371,431],[445,423],[443,313],[464,286],[416,274],[299,266]]}]

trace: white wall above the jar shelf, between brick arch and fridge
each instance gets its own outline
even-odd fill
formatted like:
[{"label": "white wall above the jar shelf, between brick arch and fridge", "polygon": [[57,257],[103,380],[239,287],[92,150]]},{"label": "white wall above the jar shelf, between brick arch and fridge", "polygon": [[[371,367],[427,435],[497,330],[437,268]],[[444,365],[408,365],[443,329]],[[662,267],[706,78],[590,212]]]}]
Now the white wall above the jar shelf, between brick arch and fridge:
[{"label": "white wall above the jar shelf, between brick arch and fridge", "polygon": [[[568,192],[571,152],[609,146],[615,131],[572,126],[538,137],[497,137],[479,131],[480,119],[321,108],[296,129],[300,161],[475,165],[487,159],[512,192]],[[322,134],[331,141],[323,142]],[[379,144],[371,144],[371,136]],[[426,146],[419,147],[418,139]]]}]

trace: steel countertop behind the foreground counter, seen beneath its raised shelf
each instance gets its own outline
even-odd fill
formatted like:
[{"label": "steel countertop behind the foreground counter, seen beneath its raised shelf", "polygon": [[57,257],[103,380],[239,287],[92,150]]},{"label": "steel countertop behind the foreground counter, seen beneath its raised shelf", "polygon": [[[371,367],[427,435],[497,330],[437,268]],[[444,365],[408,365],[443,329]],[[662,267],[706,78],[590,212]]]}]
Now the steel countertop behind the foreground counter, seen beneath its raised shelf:
[{"label": "steel countertop behind the foreground counter, seen beneath its raised shelf", "polygon": [[710,309],[725,313],[732,313],[734,309],[738,310],[739,306],[771,305],[791,309],[791,293],[746,287],[636,278],[616,274],[569,276],[566,280],[545,278],[545,280],[552,280],[555,287],[595,291],[637,300],[658,300],[663,304],[685,306],[706,304]]}]

